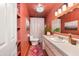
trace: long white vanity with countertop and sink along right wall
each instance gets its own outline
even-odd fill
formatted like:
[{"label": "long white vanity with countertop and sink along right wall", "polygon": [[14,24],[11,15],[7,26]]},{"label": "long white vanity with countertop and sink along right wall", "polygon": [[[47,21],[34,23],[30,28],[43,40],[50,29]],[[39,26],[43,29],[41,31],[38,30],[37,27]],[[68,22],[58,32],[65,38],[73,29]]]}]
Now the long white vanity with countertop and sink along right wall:
[{"label": "long white vanity with countertop and sink along right wall", "polygon": [[70,44],[66,39],[43,35],[43,49],[49,56],[79,56],[79,47]]}]

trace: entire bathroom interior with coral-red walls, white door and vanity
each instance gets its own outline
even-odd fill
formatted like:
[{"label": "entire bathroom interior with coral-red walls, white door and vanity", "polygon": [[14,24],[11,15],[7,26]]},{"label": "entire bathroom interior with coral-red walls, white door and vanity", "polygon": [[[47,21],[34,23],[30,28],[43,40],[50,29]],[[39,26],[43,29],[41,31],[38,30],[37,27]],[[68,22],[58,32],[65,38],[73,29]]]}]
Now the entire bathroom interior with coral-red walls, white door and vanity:
[{"label": "entire bathroom interior with coral-red walls, white door and vanity", "polygon": [[79,3],[5,3],[0,13],[0,56],[79,56]]}]

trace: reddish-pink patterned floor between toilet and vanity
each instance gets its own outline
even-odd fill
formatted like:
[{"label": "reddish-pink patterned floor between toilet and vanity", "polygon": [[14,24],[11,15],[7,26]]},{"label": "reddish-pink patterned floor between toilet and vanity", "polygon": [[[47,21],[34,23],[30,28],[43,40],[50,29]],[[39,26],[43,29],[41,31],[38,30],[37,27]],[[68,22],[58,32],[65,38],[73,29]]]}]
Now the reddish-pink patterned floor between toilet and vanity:
[{"label": "reddish-pink patterned floor between toilet and vanity", "polygon": [[31,46],[28,56],[47,56],[47,53],[42,49],[41,45]]}]

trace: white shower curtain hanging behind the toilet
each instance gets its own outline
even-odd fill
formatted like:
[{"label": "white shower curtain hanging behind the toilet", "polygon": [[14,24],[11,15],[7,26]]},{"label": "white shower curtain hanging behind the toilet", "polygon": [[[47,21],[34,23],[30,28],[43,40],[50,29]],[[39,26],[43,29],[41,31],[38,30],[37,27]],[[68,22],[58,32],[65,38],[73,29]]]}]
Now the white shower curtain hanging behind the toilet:
[{"label": "white shower curtain hanging behind the toilet", "polygon": [[44,35],[44,18],[30,18],[30,35],[41,39]]}]

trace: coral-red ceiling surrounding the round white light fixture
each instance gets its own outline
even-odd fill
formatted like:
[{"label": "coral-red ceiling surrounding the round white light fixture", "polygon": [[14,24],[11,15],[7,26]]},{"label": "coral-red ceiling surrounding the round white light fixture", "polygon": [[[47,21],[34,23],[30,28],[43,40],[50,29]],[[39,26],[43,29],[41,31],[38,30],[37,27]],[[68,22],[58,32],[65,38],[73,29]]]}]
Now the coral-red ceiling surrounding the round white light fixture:
[{"label": "coral-red ceiling surrounding the round white light fixture", "polygon": [[41,3],[43,7],[45,8],[44,12],[38,13],[34,9],[38,3],[26,3],[29,16],[31,17],[47,17],[47,15],[52,11],[52,13],[55,12],[59,7],[61,7],[62,3]]}]

